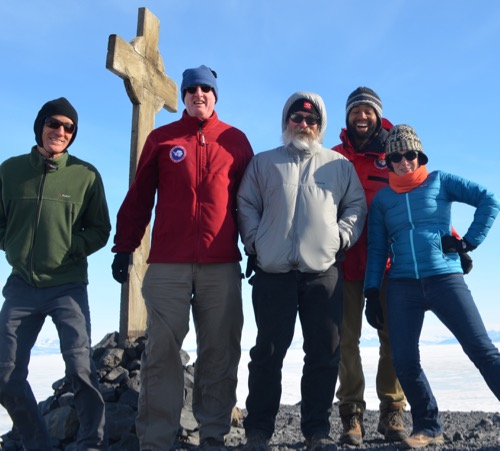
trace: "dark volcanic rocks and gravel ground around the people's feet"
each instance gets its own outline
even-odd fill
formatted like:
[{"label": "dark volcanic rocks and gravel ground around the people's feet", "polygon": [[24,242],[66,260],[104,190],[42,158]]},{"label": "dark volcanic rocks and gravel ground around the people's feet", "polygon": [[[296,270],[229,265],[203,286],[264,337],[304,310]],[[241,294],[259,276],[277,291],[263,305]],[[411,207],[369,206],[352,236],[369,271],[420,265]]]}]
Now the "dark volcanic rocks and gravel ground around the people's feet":
[{"label": "dark volcanic rocks and gravel ground around the people's feet", "polygon": [[[109,437],[109,451],[139,451],[135,435],[135,417],[140,386],[140,358],[144,350],[145,338],[126,340],[119,344],[118,334],[106,335],[93,348],[93,358],[97,367],[101,393],[106,401],[106,422]],[[177,449],[198,447],[198,424],[191,410],[194,365],[188,365],[189,355],[181,351],[184,365],[184,408],[181,415]],[[70,384],[63,378],[53,383],[54,394],[39,403],[39,408],[47,421],[53,450],[73,451],[76,449],[78,418],[76,416],[73,393]],[[499,405],[500,408],[500,405]],[[406,412],[407,424],[410,414]],[[233,425],[226,437],[228,448],[237,449],[245,443],[243,418],[245,412],[238,408],[233,411]],[[445,445],[439,449],[453,450],[500,450],[500,414],[488,412],[441,412]],[[394,444],[384,441],[377,432],[378,412],[365,412],[366,436],[362,446],[339,447],[339,449],[394,450]],[[337,406],[332,408],[332,437],[338,441],[342,425]],[[22,450],[15,429],[1,437],[1,449]],[[276,419],[276,432],[271,440],[271,448],[297,450],[304,447],[300,432],[300,406],[282,405]]]}]

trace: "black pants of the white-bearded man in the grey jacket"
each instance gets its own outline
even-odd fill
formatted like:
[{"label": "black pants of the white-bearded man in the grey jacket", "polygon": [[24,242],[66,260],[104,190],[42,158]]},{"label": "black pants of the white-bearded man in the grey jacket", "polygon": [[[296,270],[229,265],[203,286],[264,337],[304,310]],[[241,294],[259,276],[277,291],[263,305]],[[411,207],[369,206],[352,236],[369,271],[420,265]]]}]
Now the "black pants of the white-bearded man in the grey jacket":
[{"label": "black pants of the white-bearded man in the grey jacket", "polygon": [[304,338],[301,429],[305,437],[328,434],[340,360],[342,277],[336,266],[319,274],[259,269],[252,301],[257,341],[248,365],[247,436],[270,438],[281,399],[281,369],[292,342],[297,312]]}]

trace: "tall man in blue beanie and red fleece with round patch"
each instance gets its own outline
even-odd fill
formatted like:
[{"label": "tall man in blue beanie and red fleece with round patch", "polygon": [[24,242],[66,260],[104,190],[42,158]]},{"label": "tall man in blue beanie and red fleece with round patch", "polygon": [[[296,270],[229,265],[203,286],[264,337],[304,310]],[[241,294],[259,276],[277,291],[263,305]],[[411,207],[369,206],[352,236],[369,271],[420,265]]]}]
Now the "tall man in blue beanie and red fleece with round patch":
[{"label": "tall man in blue beanie and red fleece with round patch", "polygon": [[142,294],[147,343],[136,420],[142,450],[170,449],[184,397],[179,356],[192,308],[197,334],[193,413],[200,447],[224,448],[243,326],[236,193],[253,156],[246,136],[219,120],[216,74],[207,66],[183,73],[180,120],[148,136],[132,185],[118,212],[113,277],[128,278],[155,205]]}]

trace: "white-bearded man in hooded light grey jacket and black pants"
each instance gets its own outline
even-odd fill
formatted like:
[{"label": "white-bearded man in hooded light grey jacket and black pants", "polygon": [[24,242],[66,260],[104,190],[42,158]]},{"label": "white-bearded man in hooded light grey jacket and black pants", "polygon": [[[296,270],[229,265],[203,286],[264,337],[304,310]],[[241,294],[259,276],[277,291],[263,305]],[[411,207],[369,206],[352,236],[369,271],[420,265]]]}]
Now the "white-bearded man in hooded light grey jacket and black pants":
[{"label": "white-bearded man in hooded light grey jacket and black pants", "polygon": [[366,201],[354,166],[322,146],[321,97],[297,92],[282,116],[283,146],[253,157],[238,192],[257,340],[250,351],[247,450],[265,450],[281,398],[281,368],[297,313],[305,352],[301,429],[307,449],[333,449],[330,413],[342,320],[338,261],[363,229]]}]

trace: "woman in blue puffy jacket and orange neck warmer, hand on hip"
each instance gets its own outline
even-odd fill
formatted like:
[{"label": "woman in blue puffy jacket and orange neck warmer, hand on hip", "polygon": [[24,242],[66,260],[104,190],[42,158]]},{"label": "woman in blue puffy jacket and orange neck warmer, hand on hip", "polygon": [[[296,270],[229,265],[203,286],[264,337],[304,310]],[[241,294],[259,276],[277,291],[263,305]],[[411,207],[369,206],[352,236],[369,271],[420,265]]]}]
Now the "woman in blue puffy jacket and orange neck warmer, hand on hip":
[{"label": "woman in blue puffy jacket and orange neck warmer, hand on hip", "polygon": [[[438,406],[420,366],[419,338],[427,310],[453,333],[500,400],[500,352],[463,278],[471,266],[467,252],[485,239],[500,201],[477,183],[442,171],[428,173],[422,143],[408,125],[391,130],[385,152],[389,187],[377,193],[368,217],[366,317],[373,327],[382,327],[379,288],[389,255],[386,320],[394,366],[413,418],[412,435],[402,447],[440,445]],[[453,202],[476,209],[463,239],[452,234]]]}]

